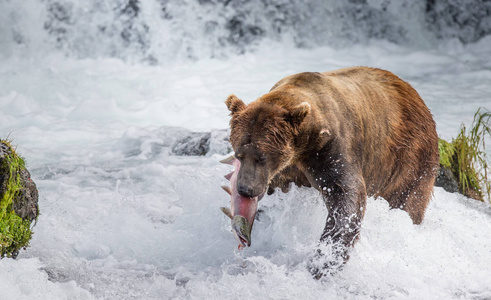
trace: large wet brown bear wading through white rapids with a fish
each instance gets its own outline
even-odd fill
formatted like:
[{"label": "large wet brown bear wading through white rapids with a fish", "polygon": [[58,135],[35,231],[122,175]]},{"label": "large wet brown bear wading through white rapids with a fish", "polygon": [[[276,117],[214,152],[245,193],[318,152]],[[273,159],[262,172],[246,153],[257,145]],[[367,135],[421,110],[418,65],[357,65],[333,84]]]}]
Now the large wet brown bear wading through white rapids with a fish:
[{"label": "large wet brown bear wading through white rapids with a fish", "polygon": [[339,246],[332,248],[337,260],[349,258],[367,196],[405,210],[414,224],[423,220],[439,165],[435,122],[418,93],[391,72],[300,73],[248,105],[234,95],[225,103],[241,163],[238,193],[287,191],[291,182],[317,189],[328,210],[320,241]]}]

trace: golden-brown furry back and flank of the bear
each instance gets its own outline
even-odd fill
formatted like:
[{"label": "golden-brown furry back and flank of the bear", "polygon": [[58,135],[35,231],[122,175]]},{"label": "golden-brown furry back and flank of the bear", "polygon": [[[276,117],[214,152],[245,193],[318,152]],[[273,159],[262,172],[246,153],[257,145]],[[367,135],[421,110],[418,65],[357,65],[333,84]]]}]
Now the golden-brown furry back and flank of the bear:
[{"label": "golden-brown furry back and flank of the bear", "polygon": [[429,109],[410,84],[389,71],[353,67],[299,73],[271,91],[295,92],[293,102],[312,105],[316,117],[305,122],[305,132],[322,124],[342,141],[344,151],[360,164],[369,195],[387,197],[407,174],[431,173],[438,165]]}]

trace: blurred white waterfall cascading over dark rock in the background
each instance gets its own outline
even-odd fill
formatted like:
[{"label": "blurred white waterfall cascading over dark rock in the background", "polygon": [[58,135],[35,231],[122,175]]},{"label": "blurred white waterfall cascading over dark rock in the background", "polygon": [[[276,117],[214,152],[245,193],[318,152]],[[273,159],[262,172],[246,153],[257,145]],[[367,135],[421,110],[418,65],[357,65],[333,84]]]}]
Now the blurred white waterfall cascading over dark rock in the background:
[{"label": "blurred white waterfall cascading over dark rock in the background", "polygon": [[0,0],[0,54],[163,64],[226,57],[265,40],[343,47],[384,39],[432,47],[491,32],[477,0]]}]

